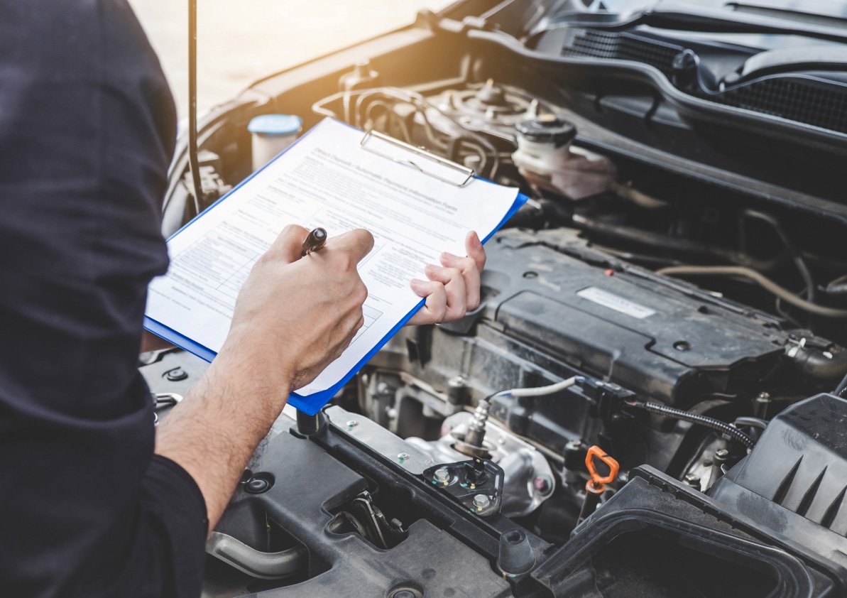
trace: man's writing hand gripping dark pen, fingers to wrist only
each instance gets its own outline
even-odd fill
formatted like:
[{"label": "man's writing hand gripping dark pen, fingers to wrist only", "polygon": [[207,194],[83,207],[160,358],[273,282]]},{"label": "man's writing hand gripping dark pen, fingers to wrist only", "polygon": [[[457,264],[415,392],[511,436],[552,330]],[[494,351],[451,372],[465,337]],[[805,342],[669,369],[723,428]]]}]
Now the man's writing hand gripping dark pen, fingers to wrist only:
[{"label": "man's writing hand gripping dark pen, fingers to wrist only", "polygon": [[301,258],[307,235],[302,226],[286,227],[253,267],[221,350],[280,391],[302,388],[340,356],[362,327],[368,296],[357,264],[374,237],[352,230]]}]

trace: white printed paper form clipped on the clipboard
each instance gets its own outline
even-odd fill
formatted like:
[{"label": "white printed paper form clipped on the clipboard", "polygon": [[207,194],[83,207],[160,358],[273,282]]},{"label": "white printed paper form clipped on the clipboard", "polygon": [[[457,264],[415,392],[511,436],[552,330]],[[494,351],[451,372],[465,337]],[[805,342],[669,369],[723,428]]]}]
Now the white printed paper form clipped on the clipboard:
[{"label": "white printed paper form clipped on the clipboard", "polygon": [[489,235],[518,195],[484,180],[462,188],[436,180],[364,151],[362,136],[324,120],[174,235],[168,274],[150,285],[147,317],[217,353],[241,285],[286,224],[322,226],[330,236],[367,229],[375,242],[359,264],[368,287],[365,323],[346,351],[297,394],[335,385],[418,305],[409,281],[426,280],[424,266],[440,263],[441,252],[465,255],[468,231]]}]

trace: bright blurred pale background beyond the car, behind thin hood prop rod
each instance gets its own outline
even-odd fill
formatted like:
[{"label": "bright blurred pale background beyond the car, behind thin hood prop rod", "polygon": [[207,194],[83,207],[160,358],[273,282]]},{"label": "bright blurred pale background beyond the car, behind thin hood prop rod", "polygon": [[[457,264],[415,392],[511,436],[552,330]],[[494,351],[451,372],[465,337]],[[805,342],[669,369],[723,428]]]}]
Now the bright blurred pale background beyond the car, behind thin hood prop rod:
[{"label": "bright blurred pale background beyond the car, behind thin hood prop rod", "polygon": [[[188,111],[185,0],[129,0],[147,30],[181,117]],[[452,0],[198,0],[197,104],[235,96],[254,80],[411,23]]]}]

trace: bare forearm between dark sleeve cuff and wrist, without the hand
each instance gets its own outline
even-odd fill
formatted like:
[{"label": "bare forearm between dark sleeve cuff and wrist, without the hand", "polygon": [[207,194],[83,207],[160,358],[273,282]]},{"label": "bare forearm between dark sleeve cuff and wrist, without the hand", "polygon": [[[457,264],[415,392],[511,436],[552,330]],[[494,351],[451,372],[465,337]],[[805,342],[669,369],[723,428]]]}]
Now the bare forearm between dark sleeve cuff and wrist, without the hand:
[{"label": "bare forearm between dark sleeve cuff and wrist, without the hand", "polygon": [[156,452],[179,463],[197,482],[209,529],[218,523],[289,395],[291,376],[274,375],[268,381],[256,374],[250,363],[222,353],[158,426]]}]

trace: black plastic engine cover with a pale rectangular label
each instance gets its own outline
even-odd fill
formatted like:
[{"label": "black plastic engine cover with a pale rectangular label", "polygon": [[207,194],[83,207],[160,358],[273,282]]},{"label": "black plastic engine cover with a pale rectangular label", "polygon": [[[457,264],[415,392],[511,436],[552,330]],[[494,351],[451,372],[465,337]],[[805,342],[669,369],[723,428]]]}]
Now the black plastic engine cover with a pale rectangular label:
[{"label": "black plastic engine cover with a pale rectangular label", "polygon": [[487,246],[484,315],[507,335],[682,406],[752,390],[782,355],[772,322],[570,257],[551,234],[506,230]]}]

